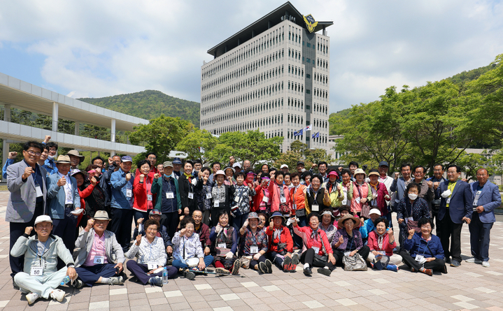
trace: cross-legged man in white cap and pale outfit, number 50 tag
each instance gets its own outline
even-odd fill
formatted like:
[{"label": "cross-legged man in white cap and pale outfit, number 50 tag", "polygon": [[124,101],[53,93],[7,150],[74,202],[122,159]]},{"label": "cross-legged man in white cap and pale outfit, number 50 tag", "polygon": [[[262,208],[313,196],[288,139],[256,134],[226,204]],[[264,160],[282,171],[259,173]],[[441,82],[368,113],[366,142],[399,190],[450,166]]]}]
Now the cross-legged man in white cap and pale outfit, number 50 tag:
[{"label": "cross-legged man in white cap and pale outfit, number 50 tag", "polygon": [[[32,229],[35,229],[36,236],[29,238]],[[35,226],[24,229],[24,234],[10,250],[14,257],[24,256],[24,269],[14,276],[14,281],[19,285],[20,291],[27,294],[29,305],[41,297],[62,302],[65,292],[57,287],[66,275],[71,280],[77,277],[70,251],[59,236],[50,234],[51,231],[52,219],[48,215],[38,216]],[[66,263],[66,266],[59,270],[58,257]]]}]

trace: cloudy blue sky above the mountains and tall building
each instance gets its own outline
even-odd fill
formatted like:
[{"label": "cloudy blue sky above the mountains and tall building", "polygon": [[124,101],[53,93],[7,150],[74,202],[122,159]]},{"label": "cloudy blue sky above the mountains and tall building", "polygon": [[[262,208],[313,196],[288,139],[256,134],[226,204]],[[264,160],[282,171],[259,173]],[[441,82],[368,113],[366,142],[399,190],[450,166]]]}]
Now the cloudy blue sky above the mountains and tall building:
[{"label": "cloudy blue sky above the mountains and tall building", "polygon": [[[487,66],[503,1],[290,1],[333,21],[330,113]],[[73,98],[155,89],[201,99],[207,50],[284,0],[0,0],[0,72]]]}]

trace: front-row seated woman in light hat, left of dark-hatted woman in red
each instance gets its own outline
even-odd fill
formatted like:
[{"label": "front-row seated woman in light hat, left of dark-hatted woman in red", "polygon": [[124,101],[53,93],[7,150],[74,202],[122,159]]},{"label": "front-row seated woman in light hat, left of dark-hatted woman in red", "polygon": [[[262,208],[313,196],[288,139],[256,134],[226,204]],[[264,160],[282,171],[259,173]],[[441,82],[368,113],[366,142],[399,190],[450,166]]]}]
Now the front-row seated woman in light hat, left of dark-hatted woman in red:
[{"label": "front-row seated woman in light hat, left of dark-hatted woman in red", "polygon": [[250,267],[261,273],[272,273],[272,263],[265,258],[267,252],[267,235],[258,229],[259,216],[250,212],[248,219],[239,229],[241,237],[241,256],[252,256]]}]

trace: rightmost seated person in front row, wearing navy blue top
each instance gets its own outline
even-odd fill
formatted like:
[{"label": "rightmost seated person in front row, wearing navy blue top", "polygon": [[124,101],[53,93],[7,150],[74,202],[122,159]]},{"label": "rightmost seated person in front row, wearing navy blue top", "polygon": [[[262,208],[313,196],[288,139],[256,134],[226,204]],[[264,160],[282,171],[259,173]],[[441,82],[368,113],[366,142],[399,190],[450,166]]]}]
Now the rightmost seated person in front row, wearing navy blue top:
[{"label": "rightmost seated person in front row, wearing navy blue top", "polygon": [[444,248],[440,238],[432,234],[434,224],[430,218],[418,221],[420,232],[409,230],[409,236],[404,240],[404,248],[409,251],[401,252],[404,262],[411,267],[411,272],[420,271],[433,275],[433,270],[447,273]]}]

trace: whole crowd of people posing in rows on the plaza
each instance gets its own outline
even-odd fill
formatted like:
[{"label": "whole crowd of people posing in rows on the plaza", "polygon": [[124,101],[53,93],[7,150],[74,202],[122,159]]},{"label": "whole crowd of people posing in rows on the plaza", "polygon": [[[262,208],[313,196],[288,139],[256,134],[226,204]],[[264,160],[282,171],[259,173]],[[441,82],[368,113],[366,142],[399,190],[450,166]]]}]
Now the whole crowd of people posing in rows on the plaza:
[{"label": "whole crowd of people posing in rows on the plaza", "polygon": [[388,175],[385,161],[369,171],[355,161],[348,169],[322,161],[308,170],[298,161],[292,171],[286,164],[254,171],[234,157],[228,165],[157,164],[149,153],[135,172],[131,157],[116,155],[94,157],[80,171],[84,157],[77,150],[57,156],[57,148],[50,137],[29,141],[22,161],[11,152],[3,167],[13,287],[29,304],[62,301],[57,287],[65,283],[122,284],[124,268],[136,282],[160,287],[177,276],[273,273],[273,266],[294,273],[299,264],[304,275],[316,267],[329,276],[336,266],[397,271],[402,263],[447,273],[447,264],[462,262],[464,223],[466,261],[490,266],[501,196],[485,168],[468,184],[455,164],[437,164],[427,178],[426,168],[411,164]]}]

